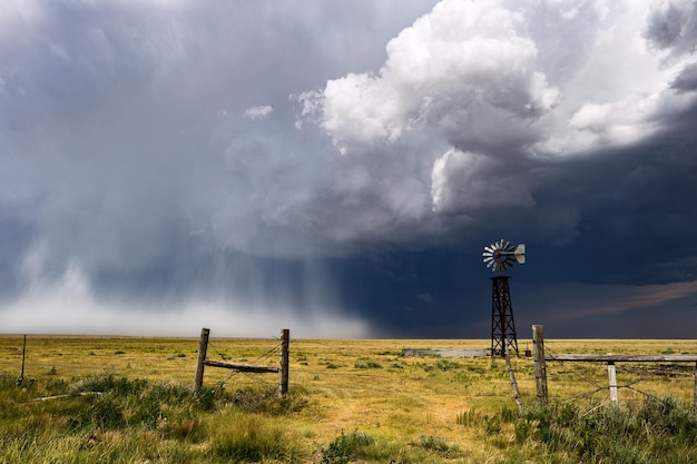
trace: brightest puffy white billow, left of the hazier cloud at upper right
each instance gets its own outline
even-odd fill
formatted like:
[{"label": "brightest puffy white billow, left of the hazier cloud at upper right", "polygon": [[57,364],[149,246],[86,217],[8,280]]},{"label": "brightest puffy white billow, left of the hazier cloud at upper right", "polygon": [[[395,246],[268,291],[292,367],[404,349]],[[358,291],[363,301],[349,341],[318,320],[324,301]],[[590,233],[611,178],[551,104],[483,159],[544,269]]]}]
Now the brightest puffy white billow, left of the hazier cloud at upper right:
[{"label": "brightest puffy white billow, left of the hazier cloud at upper right", "polygon": [[442,1],[387,43],[377,73],[328,81],[323,92],[305,95],[304,109],[321,109],[321,125],[342,152],[430,127],[460,148],[526,139],[557,90],[536,69],[537,48],[519,33],[522,26],[501,2]]}]

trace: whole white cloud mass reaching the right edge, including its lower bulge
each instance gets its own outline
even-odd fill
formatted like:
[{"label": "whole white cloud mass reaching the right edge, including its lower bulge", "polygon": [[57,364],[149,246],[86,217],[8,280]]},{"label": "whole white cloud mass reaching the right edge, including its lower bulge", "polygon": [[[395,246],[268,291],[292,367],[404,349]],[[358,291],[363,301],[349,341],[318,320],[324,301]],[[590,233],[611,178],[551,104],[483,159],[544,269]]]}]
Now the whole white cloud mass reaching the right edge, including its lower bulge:
[{"label": "whole white cloud mass reaching the right edge, including its lower bulge", "polygon": [[435,213],[533,206],[527,161],[640,142],[695,105],[695,11],[687,1],[443,0],[387,43],[379,70],[302,93],[303,117],[348,156],[430,139],[419,155],[430,177],[416,179]]}]

